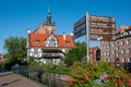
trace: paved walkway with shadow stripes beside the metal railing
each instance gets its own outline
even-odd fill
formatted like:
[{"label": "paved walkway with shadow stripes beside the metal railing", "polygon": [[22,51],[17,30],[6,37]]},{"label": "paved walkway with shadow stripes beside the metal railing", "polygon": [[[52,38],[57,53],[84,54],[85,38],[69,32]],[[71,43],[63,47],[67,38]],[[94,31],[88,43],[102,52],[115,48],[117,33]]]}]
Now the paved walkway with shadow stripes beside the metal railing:
[{"label": "paved walkway with shadow stripes beside the metal railing", "polygon": [[14,74],[13,72],[0,73],[0,87],[40,87],[37,83]]}]

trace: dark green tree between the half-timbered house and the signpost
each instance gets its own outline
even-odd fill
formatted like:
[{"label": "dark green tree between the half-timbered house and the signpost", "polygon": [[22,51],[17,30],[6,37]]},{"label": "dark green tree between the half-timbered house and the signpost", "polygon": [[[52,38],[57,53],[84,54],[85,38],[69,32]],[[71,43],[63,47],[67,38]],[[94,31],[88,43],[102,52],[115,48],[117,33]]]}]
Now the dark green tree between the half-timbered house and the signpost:
[{"label": "dark green tree between the half-timbered house and the signpost", "polygon": [[75,42],[75,47],[70,49],[68,54],[66,55],[64,62],[68,65],[72,65],[74,61],[82,61],[82,59],[86,55],[86,44]]}]

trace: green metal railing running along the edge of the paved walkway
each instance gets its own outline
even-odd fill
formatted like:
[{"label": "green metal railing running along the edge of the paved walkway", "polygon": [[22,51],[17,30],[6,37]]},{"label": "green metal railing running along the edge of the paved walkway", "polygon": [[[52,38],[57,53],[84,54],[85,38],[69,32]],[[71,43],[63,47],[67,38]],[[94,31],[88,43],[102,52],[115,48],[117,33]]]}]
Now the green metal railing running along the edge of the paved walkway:
[{"label": "green metal railing running along the edge of the paved walkway", "polygon": [[19,66],[14,70],[16,74],[23,75],[36,83],[39,83],[41,87],[68,87],[69,74],[53,73],[49,71],[43,71],[35,66]]}]

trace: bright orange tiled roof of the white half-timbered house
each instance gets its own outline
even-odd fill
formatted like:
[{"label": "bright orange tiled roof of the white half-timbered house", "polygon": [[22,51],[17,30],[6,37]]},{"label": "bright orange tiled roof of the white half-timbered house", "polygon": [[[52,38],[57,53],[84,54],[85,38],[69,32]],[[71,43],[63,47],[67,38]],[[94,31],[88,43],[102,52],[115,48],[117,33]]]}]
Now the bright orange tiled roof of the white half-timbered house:
[{"label": "bright orange tiled roof of the white half-timbered house", "polygon": [[[53,35],[53,34],[52,34]],[[49,37],[49,34],[29,34],[29,46],[31,47],[46,47],[46,39]],[[74,47],[74,41],[71,35],[66,35],[66,39],[63,38],[63,35],[53,35],[58,40],[58,48],[72,48]],[[39,44],[36,44],[36,40],[39,41]]]}]

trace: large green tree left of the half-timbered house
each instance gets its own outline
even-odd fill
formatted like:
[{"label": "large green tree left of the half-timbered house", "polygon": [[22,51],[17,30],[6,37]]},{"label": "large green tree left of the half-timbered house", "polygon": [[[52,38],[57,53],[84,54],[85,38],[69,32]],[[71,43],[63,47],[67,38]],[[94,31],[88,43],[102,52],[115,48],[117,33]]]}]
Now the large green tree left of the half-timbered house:
[{"label": "large green tree left of the half-timbered house", "polygon": [[8,64],[22,64],[26,59],[26,38],[9,37],[4,40],[4,49]]}]

